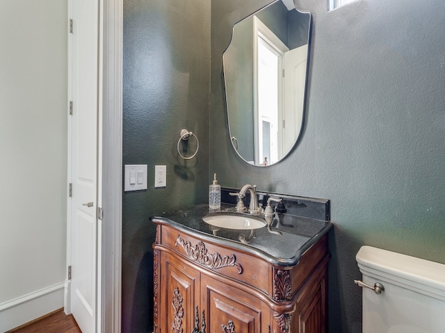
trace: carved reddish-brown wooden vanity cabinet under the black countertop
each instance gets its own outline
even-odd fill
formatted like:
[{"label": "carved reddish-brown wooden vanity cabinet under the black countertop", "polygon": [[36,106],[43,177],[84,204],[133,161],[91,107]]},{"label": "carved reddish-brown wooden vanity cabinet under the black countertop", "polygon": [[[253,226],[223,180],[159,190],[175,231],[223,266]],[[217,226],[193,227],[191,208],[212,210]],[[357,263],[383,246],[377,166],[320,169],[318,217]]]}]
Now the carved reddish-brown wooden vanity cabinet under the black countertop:
[{"label": "carved reddish-brown wooden vanity cabinet under the black countertop", "polygon": [[167,224],[153,247],[155,333],[326,332],[326,236],[293,267]]}]

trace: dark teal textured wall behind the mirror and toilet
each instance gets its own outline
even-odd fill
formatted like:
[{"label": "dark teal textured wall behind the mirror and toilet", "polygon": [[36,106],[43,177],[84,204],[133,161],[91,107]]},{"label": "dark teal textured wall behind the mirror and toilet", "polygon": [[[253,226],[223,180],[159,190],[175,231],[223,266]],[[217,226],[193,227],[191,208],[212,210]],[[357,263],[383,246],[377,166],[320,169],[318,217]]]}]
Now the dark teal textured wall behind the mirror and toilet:
[{"label": "dark teal textured wall behind the mirror and toilet", "polygon": [[305,128],[284,162],[243,162],[226,129],[221,53],[266,0],[211,1],[209,173],[220,184],[332,200],[330,332],[362,332],[366,244],[445,263],[445,2],[362,0],[314,15]]}]

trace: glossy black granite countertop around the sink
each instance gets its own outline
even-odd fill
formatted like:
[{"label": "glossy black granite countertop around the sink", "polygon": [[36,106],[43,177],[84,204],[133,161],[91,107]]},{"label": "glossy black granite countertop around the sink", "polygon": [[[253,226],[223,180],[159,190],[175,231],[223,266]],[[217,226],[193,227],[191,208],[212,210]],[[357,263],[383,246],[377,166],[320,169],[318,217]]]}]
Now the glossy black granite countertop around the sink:
[{"label": "glossy black granite countertop around the sink", "polygon": [[[222,203],[220,211],[234,212],[234,205]],[[202,220],[202,216],[208,213],[209,205],[202,204],[163,212],[150,217],[150,220],[172,225],[203,240],[252,253],[277,266],[296,266],[301,255],[332,228],[329,221],[277,213],[270,228],[216,228]]]}]

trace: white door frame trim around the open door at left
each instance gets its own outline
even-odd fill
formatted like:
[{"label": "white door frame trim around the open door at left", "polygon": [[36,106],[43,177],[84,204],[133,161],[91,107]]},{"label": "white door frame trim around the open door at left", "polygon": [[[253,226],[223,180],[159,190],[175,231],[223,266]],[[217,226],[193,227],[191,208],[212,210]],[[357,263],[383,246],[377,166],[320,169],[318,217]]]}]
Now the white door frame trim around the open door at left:
[{"label": "white door frame trim around the open door at left", "polygon": [[[122,33],[123,0],[99,0],[99,222],[97,247],[97,332],[121,332],[122,300]],[[69,22],[68,17],[68,22]],[[68,43],[68,52],[71,46]],[[71,64],[68,62],[68,71]],[[68,77],[71,77],[68,73]],[[102,85],[100,84],[102,81]],[[68,91],[70,92],[70,83]],[[70,100],[70,96],[68,96]],[[68,175],[71,121],[68,121]],[[69,176],[70,177],[70,176]],[[71,179],[68,178],[68,182]],[[102,200],[101,200],[102,196]],[[71,202],[67,200],[67,212]],[[71,219],[67,214],[67,266],[71,264]],[[71,282],[65,278],[64,307],[71,313]]]}]

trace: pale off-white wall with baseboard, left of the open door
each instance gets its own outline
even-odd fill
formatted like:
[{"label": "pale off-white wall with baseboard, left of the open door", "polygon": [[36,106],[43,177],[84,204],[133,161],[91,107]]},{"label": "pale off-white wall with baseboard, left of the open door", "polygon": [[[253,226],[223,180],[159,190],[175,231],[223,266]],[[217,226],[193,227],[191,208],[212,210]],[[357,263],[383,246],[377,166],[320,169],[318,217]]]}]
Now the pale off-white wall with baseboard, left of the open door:
[{"label": "pale off-white wall with baseboard, left of the open door", "polygon": [[67,1],[1,0],[0,332],[63,307],[66,105]]}]

